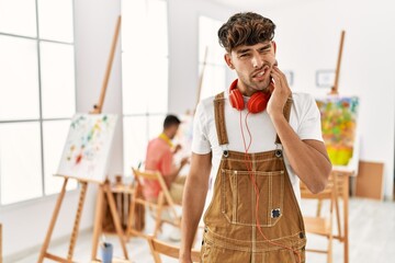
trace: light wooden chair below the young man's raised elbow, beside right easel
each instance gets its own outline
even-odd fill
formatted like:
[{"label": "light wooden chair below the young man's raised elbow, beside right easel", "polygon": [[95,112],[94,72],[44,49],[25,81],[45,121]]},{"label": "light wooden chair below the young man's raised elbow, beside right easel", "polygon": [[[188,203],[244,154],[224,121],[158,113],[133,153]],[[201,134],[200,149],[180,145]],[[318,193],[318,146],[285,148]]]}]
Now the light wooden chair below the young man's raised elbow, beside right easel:
[{"label": "light wooden chair below the young man's raised elbow, beside right easel", "polygon": [[[318,193],[313,194],[305,184],[301,183],[301,196],[304,199],[317,199],[320,204],[323,201],[329,202],[329,213],[326,217],[317,215],[317,216],[304,216],[304,222],[307,233],[318,235],[326,237],[328,239],[328,247],[326,250],[321,249],[306,249],[307,252],[315,252],[315,253],[326,253],[327,254],[327,262],[332,262],[332,240],[334,240],[334,233],[332,233],[332,226],[334,226],[334,208],[335,206],[338,207],[337,203],[337,176],[336,174],[331,174],[329,178],[329,182],[326,186],[326,188]],[[319,207],[320,209],[320,207]],[[337,213],[338,214],[338,213]],[[337,218],[339,218],[337,216]],[[338,219],[339,221],[339,219]],[[339,226],[339,225],[338,225]],[[340,227],[339,227],[340,231]]]}]

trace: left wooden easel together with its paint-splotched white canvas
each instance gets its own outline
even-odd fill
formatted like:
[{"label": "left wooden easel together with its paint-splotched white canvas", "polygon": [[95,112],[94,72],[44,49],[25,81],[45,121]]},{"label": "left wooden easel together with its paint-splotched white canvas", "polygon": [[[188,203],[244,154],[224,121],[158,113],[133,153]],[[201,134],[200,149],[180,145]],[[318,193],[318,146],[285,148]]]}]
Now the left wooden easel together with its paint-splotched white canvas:
[{"label": "left wooden easel together with its paint-splotched white canvas", "polygon": [[[103,214],[104,195],[108,197],[111,215],[114,220],[116,233],[125,259],[128,259],[125,235],[121,227],[120,216],[116,210],[114,196],[111,194],[110,182],[106,180],[108,160],[110,157],[111,145],[114,136],[114,129],[117,117],[115,115],[102,114],[102,107],[105,98],[105,91],[109,84],[112,62],[120,35],[121,15],[117,18],[115,33],[111,46],[108,66],[104,75],[99,103],[93,106],[90,114],[77,114],[71,122],[69,135],[61,156],[58,174],[64,178],[64,184],[58,195],[49,227],[42,245],[37,263],[49,259],[56,262],[74,262],[74,250],[77,243],[79,224],[81,220],[84,198],[87,195],[88,183],[98,184],[97,209],[93,226],[91,259],[97,259],[99,236],[101,235],[101,220]],[[67,182],[69,179],[76,179],[80,183],[80,196],[72,232],[69,242],[67,258],[61,258],[48,252],[48,247],[54,231],[57,217],[66,194]]]}]

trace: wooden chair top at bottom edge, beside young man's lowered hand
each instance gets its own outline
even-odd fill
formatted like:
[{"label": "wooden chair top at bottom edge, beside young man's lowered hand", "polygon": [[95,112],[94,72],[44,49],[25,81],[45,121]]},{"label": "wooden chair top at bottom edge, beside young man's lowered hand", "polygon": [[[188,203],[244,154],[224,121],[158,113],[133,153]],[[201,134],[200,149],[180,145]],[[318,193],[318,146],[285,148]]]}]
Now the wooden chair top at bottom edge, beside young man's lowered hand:
[{"label": "wooden chair top at bottom edge, beside young man's lowered hand", "polygon": [[[149,243],[149,248],[153,253],[155,263],[161,263],[160,254],[174,259],[179,258],[179,252],[180,252],[179,248],[159,241],[151,236],[147,237],[147,241]],[[192,250],[191,256],[192,256],[192,262],[200,262],[200,251]]]}]

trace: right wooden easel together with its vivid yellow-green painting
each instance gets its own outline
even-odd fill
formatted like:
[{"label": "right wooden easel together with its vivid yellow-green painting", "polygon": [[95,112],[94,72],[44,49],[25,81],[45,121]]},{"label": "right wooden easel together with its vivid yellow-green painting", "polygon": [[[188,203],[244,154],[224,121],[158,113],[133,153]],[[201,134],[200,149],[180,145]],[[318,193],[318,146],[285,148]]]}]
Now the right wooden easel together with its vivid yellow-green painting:
[{"label": "right wooden easel together with its vivid yellow-green painting", "polygon": [[[343,201],[342,233],[334,236],[343,243],[345,263],[349,262],[349,238],[348,238],[348,199],[349,179],[358,170],[359,161],[359,133],[358,111],[359,99],[357,96],[339,95],[339,79],[341,57],[345,45],[346,31],[341,31],[339,53],[335,73],[335,83],[330,93],[325,99],[317,99],[317,105],[321,115],[321,132],[328,156],[332,162],[332,175],[337,176],[341,186],[337,191],[335,202],[336,218],[340,226],[338,198]],[[338,185],[339,186],[339,185]],[[338,188],[338,187],[337,187]],[[342,194],[341,194],[342,193]],[[318,201],[317,211],[320,210],[321,202]],[[317,213],[318,214],[318,213]],[[340,229],[340,228],[339,228]]]}]

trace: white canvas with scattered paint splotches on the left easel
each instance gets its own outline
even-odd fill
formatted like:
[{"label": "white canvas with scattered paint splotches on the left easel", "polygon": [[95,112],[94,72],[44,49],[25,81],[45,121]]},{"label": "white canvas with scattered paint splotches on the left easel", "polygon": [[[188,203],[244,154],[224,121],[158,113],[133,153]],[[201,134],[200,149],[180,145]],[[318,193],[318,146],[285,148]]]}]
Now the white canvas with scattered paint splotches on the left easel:
[{"label": "white canvas with scattered paint splotches on the left easel", "polygon": [[104,182],[117,116],[76,114],[57,175]]}]

